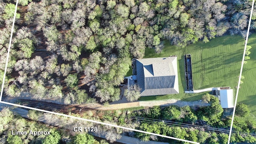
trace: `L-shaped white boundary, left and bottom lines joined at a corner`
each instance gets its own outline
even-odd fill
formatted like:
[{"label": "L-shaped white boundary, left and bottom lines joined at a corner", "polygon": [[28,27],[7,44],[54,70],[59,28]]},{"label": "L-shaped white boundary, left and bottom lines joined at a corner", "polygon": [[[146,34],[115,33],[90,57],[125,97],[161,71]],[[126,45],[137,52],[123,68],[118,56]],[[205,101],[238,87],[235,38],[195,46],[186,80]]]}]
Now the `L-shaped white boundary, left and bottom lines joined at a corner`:
[{"label": "L-shaped white boundary, left and bottom lines joined at a corner", "polygon": [[108,123],[104,123],[104,122],[98,122],[98,121],[95,121],[95,120],[89,120],[89,119],[85,119],[85,118],[79,118],[79,117],[70,116],[70,115],[67,115],[67,114],[60,114],[60,113],[57,113],[57,112],[51,112],[51,111],[47,111],[47,110],[41,110],[41,109],[38,109],[38,108],[32,108],[32,107],[28,107],[28,106],[22,106],[22,105],[19,105],[19,104],[12,104],[12,103],[9,103],[9,102],[4,102],[4,101],[2,101],[2,95],[3,95],[3,90],[4,90],[4,81],[5,81],[5,77],[6,77],[6,70],[7,70],[7,65],[8,65],[8,59],[9,59],[9,56],[10,56],[10,48],[11,48],[11,43],[12,43],[12,34],[13,34],[13,31],[14,31],[14,24],[15,24],[15,18],[16,18],[17,8],[18,8],[18,0],[16,1],[16,7],[15,7],[15,12],[14,12],[14,18],[13,18],[13,22],[12,22],[12,31],[11,31],[11,36],[10,36],[10,42],[9,42],[7,57],[6,57],[6,64],[5,64],[5,68],[4,68],[4,77],[3,77],[2,88],[1,88],[1,94],[0,94],[0,103],[2,103],[2,104],[9,104],[9,105],[12,105],[12,106],[18,106],[18,107],[21,107],[21,108],[28,108],[28,109],[30,109],[30,110],[37,110],[37,111],[40,111],[40,112],[47,112],[47,113],[56,114],[56,115],[59,115],[59,116],[66,116],[66,117],[75,118],[75,119],[78,119],[78,120],[84,120],[84,121],[88,121],[88,122],[94,122],[94,123],[97,123],[97,124],[104,124],[104,125],[106,125],[106,126],[113,126],[113,127],[116,127],[116,128],[122,128],[122,129],[126,129],[126,130],[132,130],[132,131],[135,131],[135,132],[142,132],[142,133],[144,133],[144,134],[151,134],[151,135],[155,135],[155,136],[161,136],[161,137],[163,137],[163,138],[170,138],[170,139],[173,139],[173,140],[180,140],[180,141],[189,142],[189,143],[192,143],[192,144],[199,144],[198,142],[192,142],[192,141],[190,141],[190,140],[184,140],[184,139],[180,139],[180,138],[174,138],[174,137],[171,137],[171,136],[164,136],[164,135],[155,134],[155,133],[152,133],[152,132],[146,132],[146,131],[142,131],[142,130],[136,130],[136,129],[127,128],[127,127],[124,127],[124,126],[118,126],[118,125],[114,125],[114,124],[108,124]]}]

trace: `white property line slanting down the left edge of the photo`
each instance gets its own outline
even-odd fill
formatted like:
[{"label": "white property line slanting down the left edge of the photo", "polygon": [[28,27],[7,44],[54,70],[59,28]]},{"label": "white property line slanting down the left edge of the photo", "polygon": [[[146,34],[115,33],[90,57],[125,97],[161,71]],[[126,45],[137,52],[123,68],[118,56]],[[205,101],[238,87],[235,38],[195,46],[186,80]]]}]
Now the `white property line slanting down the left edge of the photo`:
[{"label": "white property line slanting down the left edge of the photo", "polygon": [[12,31],[11,31],[11,36],[10,36],[10,42],[9,42],[9,47],[8,47],[8,50],[7,50],[7,58],[6,58],[5,68],[4,68],[4,77],[3,77],[3,82],[2,82],[0,101],[2,101],[2,96],[3,96],[3,91],[4,91],[4,81],[5,81],[5,75],[6,75],[6,70],[7,70],[7,65],[8,65],[9,55],[10,55],[10,49],[11,49],[11,43],[12,43],[12,34],[13,34],[13,30],[14,30],[14,23],[15,23],[17,8],[18,8],[18,0],[16,1],[15,11],[14,11],[14,18],[13,18],[13,22],[12,22]]}]

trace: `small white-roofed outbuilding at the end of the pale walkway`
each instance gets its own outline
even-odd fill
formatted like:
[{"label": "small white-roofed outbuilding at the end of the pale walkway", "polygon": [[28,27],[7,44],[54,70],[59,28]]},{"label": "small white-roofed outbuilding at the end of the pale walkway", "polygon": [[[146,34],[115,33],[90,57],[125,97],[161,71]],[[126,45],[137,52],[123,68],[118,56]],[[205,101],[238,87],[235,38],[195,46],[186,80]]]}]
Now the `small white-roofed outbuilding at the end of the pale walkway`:
[{"label": "small white-roofed outbuilding at the end of the pale walkway", "polygon": [[234,108],[234,93],[230,87],[213,88],[212,94],[218,97],[222,108]]}]

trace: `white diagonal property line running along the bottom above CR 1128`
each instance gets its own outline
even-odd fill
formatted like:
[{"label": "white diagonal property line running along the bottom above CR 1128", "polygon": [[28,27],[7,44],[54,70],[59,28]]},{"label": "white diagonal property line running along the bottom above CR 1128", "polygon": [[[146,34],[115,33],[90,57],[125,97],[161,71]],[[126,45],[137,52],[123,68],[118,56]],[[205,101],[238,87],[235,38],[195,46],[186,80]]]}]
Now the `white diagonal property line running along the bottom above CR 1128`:
[{"label": "white diagonal property line running along the bottom above CR 1128", "polygon": [[85,121],[94,122],[94,123],[97,123],[97,124],[104,124],[104,125],[113,126],[113,127],[116,127],[116,128],[122,128],[122,129],[126,129],[126,130],[132,130],[132,131],[135,131],[135,132],[142,132],[142,133],[145,133],[145,134],[151,134],[151,135],[155,135],[155,136],[161,136],[161,137],[170,138],[170,139],[173,139],[173,140],[180,140],[180,141],[183,141],[183,142],[190,142],[190,143],[192,143],[192,144],[199,144],[198,142],[192,142],[192,141],[189,141],[189,140],[183,140],[183,139],[174,138],[174,137],[171,137],[171,136],[164,136],[164,135],[161,135],[161,134],[154,134],[154,133],[152,133],[152,132],[146,132],[146,131],[142,131],[142,130],[136,130],[136,129],[133,129],[133,128],[126,128],[126,127],[124,127],[124,126],[118,126],[118,125],[114,125],[114,124],[108,124],[108,123],[105,123],[105,122],[98,122],[98,121],[95,121],[95,120],[88,120],[88,119],[85,119],[85,118],[78,118],[78,117],[70,116],[70,115],[67,115],[67,114],[60,114],[60,113],[57,113],[57,112],[50,112],[50,111],[48,111],[48,110],[41,110],[41,109],[38,109],[38,108],[31,108],[31,107],[22,106],[22,105],[19,105],[19,104],[12,104],[12,103],[3,102],[3,101],[1,101],[0,103],[9,104],[9,105],[12,105],[12,106],[18,106],[18,107],[22,107],[22,108],[28,108],[28,109],[30,109],[30,110],[38,110],[38,111],[40,111],[40,112],[47,112],[47,113],[56,114],[56,115],[59,115],[59,116],[66,116],[66,117],[75,118],[75,119],[78,119],[78,120],[85,120]]}]

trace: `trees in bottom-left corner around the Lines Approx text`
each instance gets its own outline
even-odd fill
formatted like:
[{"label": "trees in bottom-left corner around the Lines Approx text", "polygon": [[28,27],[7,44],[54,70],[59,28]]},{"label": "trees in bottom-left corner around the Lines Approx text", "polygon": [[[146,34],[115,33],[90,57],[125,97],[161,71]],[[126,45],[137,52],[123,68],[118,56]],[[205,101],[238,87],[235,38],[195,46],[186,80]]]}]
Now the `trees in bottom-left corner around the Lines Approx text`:
[{"label": "trees in bottom-left corner around the Lines Approx text", "polygon": [[[34,120],[38,120],[38,116],[45,115],[46,119],[53,120],[49,123],[56,121],[56,116],[49,114],[42,114],[36,111],[29,111],[29,117]],[[48,117],[47,117],[48,116]],[[14,115],[9,108],[4,108],[0,112],[0,142],[1,144],[59,144],[65,142],[65,144],[108,144],[108,142],[102,140],[98,142],[94,137],[88,133],[70,133],[65,128],[58,128],[55,126],[49,126],[46,124],[27,120],[18,115]],[[73,122],[74,126],[77,124]],[[50,135],[41,134],[33,135],[32,132],[50,132]],[[13,133],[11,133],[11,131]],[[15,135],[15,132],[27,132],[23,135]],[[14,134],[14,135],[13,135]]]}]

